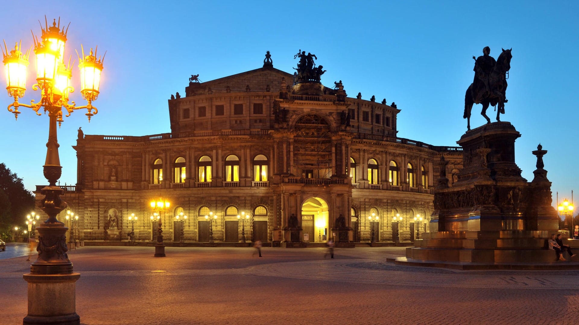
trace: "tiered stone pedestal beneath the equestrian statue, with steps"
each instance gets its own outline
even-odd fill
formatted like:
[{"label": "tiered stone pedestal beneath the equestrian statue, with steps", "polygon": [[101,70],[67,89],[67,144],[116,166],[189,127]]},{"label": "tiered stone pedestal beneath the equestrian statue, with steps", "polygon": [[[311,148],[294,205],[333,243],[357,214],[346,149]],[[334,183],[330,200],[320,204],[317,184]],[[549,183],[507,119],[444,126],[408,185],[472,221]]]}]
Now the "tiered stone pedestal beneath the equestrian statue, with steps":
[{"label": "tiered stone pedestal beneath the equestrian statue, with steps", "polygon": [[[556,260],[545,249],[549,235],[558,230],[551,182],[542,158],[533,182],[521,177],[515,163],[519,136],[510,123],[497,122],[467,131],[457,141],[464,168],[452,187],[441,182],[434,189],[434,231],[406,249],[408,259],[487,264]],[[545,153],[533,152],[537,158]]]}]

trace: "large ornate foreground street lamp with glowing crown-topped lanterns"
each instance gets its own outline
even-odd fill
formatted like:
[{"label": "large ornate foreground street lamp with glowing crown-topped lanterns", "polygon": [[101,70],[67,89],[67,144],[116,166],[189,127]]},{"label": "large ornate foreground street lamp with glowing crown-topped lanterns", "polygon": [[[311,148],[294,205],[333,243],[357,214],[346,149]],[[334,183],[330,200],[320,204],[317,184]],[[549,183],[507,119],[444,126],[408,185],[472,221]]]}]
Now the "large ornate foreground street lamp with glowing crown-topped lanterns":
[{"label": "large ornate foreground street lamp with glowing crown-topped lanterns", "polygon": [[[85,115],[89,117],[97,113],[92,102],[97,99],[100,86],[100,75],[104,57],[97,57],[96,50],[93,55],[91,49],[88,56],[82,50],[82,58],[79,56],[80,68],[80,94],[86,99],[87,105],[76,106],[74,101],[69,104],[68,95],[74,91],[70,85],[71,65],[64,64],[64,45],[67,41],[67,31],[60,29],[54,20],[51,27],[45,20],[45,28],[42,29],[41,39],[34,36],[34,53],[36,57],[36,83],[32,90],[41,90],[41,98],[38,102],[30,101],[30,105],[21,104],[19,98],[24,96],[26,90],[26,70],[30,50],[23,53],[21,42],[16,43],[14,49],[8,50],[6,42],[2,49],[3,64],[6,73],[8,95],[14,97],[14,102],[8,106],[8,111],[18,118],[21,113],[20,106],[31,108],[36,115],[42,115],[38,111],[42,108],[49,116],[49,135],[46,143],[46,161],[43,166],[44,176],[49,185],[41,190],[44,195],[40,202],[40,208],[48,215],[48,219],[37,227],[38,258],[30,267],[30,274],[25,274],[24,279],[28,282],[28,315],[24,318],[24,324],[80,324],[80,317],[74,308],[75,281],[79,274],[73,273],[72,263],[66,254],[67,245],[65,232],[68,230],[63,223],[56,219],[59,212],[67,208],[66,202],[61,200],[63,189],[56,185],[61,175],[60,158],[58,157],[58,141],[56,124],[63,122],[63,109],[66,116],[70,116],[75,109],[86,109]],[[55,249],[56,248],[56,249]],[[32,294],[45,292],[47,294]],[[68,297],[67,303],[54,304],[56,297]],[[50,308],[45,308],[50,306]]]}]

